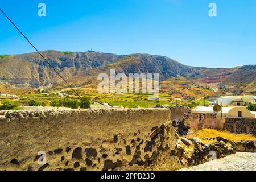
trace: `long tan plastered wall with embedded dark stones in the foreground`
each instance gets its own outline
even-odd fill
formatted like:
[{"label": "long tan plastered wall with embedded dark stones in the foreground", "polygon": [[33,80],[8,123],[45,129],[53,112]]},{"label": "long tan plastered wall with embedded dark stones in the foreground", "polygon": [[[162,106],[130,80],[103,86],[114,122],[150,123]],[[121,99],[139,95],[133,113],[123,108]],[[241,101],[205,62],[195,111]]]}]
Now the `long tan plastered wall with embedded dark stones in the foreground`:
[{"label": "long tan plastered wall with embedded dark stones in the foreground", "polygon": [[178,169],[170,118],[170,109],[0,111],[0,170]]}]

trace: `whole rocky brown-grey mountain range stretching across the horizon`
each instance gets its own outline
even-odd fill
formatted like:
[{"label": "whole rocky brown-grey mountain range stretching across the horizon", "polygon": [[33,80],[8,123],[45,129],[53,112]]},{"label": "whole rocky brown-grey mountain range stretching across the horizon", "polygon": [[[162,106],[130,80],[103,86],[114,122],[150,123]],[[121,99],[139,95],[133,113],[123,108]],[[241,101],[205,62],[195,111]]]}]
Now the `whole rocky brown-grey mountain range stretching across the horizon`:
[{"label": "whole rocky brown-grey mountain range stretching across the horizon", "polygon": [[[42,51],[44,57],[71,85],[96,86],[97,75],[110,73],[159,73],[160,81],[180,78],[201,84],[245,87],[254,92],[256,65],[236,68],[199,68],[183,65],[166,56],[133,54],[115,55],[100,52]],[[0,56],[0,83],[12,88],[53,88],[67,86],[38,55]]]}]

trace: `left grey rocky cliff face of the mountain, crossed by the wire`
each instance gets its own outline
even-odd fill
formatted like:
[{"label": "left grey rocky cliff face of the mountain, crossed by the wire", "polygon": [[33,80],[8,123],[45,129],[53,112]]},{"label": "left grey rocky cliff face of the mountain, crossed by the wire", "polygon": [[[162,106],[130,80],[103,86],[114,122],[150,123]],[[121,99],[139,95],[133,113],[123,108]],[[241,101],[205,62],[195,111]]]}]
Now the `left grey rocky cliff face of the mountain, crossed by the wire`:
[{"label": "left grey rocky cliff face of the mountain, crossed by the wire", "polygon": [[[97,52],[43,51],[42,55],[66,79],[86,69],[112,64],[118,60],[118,55]],[[62,81],[38,53],[10,55],[0,59],[0,82],[7,85],[38,88],[54,86]]]}]

